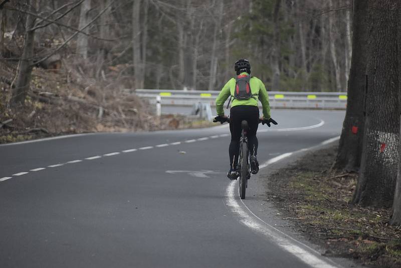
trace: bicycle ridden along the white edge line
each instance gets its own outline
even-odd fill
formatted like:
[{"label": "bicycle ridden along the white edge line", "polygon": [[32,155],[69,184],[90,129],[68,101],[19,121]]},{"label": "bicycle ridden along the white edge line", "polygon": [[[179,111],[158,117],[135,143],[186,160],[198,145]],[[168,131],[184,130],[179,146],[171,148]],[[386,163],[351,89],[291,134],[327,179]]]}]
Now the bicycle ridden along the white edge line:
[{"label": "bicycle ridden along the white edge line", "polygon": [[[230,118],[215,117],[213,122],[220,122],[221,124],[228,122],[230,123]],[[277,122],[272,118],[259,120],[259,124],[267,124],[270,127],[270,123],[277,125]],[[246,120],[241,122],[241,139],[240,139],[240,153],[238,156],[237,173],[240,178],[239,194],[241,199],[245,199],[246,189],[248,188],[248,180],[251,178],[251,164],[250,164],[250,154],[248,148],[248,137],[247,133],[249,131],[249,125]]]}]

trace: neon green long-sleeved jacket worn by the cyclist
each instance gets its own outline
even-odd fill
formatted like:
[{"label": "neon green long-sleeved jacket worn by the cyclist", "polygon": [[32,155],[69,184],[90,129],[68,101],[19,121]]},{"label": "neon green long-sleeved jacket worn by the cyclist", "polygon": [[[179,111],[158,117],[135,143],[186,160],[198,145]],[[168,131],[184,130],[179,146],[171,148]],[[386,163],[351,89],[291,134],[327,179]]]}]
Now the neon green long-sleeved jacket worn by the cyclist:
[{"label": "neon green long-sleeved jacket worn by the cyclist", "polygon": [[[244,72],[240,75],[248,75],[248,73]],[[237,100],[234,98],[234,90],[235,90],[236,79],[230,79],[226,85],[224,85],[223,89],[220,91],[219,96],[216,99],[216,111],[217,115],[224,115],[224,103],[228,99],[228,97],[232,98],[231,107],[239,106],[239,105],[247,105],[247,106],[258,106],[258,99],[262,103],[263,107],[263,117],[265,119],[270,119],[270,104],[269,97],[267,95],[267,91],[263,82],[257,78],[252,77],[249,81],[249,85],[251,87],[253,98],[248,100]]]}]

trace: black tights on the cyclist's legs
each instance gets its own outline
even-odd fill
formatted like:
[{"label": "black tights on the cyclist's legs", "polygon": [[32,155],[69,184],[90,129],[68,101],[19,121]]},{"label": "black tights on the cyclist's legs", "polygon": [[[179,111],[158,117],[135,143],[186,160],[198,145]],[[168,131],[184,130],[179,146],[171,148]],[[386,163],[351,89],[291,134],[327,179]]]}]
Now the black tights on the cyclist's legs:
[{"label": "black tights on the cyclist's legs", "polygon": [[247,105],[234,106],[230,110],[231,143],[229,148],[230,165],[233,169],[237,168],[242,132],[241,122],[243,120],[247,120],[249,125],[247,137],[250,153],[251,155],[256,155],[258,152],[258,138],[256,137],[256,132],[259,125],[259,108]]}]

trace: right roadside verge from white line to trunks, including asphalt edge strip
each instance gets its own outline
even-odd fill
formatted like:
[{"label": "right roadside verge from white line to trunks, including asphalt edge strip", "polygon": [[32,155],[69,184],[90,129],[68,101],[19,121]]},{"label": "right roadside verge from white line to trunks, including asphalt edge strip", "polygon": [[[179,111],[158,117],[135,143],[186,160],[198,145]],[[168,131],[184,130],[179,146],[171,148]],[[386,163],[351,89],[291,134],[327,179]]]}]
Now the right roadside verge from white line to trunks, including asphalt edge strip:
[{"label": "right roadside verge from white line to trunks, including asphalt edge strip", "polygon": [[357,178],[330,170],[336,148],[331,143],[262,169],[247,205],[343,266],[399,267],[400,229],[388,226],[388,209],[349,204]]}]

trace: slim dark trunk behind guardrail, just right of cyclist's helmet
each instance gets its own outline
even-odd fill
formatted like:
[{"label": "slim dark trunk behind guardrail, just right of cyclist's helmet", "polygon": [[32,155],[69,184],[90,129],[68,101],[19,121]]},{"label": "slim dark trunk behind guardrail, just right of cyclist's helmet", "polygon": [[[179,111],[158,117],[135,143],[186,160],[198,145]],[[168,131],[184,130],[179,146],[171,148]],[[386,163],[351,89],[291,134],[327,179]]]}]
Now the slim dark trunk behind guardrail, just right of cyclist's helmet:
[{"label": "slim dark trunk behind guardrail, just right of cyclist's helmet", "polygon": [[[281,0],[276,0],[273,11],[273,48],[272,48],[272,69],[273,69],[273,81],[272,90],[278,91],[280,88],[280,26],[279,26],[279,12],[280,12]],[[306,56],[305,56],[306,57]]]}]

